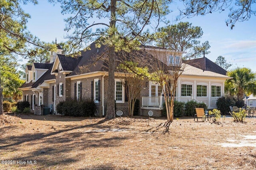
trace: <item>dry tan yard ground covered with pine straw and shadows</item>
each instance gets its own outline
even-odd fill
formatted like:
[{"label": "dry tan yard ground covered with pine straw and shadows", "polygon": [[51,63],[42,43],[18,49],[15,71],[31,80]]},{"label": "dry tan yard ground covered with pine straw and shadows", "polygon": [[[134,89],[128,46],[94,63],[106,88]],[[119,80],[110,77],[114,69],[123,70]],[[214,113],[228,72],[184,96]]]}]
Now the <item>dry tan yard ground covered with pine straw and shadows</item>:
[{"label": "dry tan yard ground covered with pine straw and shadows", "polygon": [[256,118],[5,116],[1,170],[256,170]]}]

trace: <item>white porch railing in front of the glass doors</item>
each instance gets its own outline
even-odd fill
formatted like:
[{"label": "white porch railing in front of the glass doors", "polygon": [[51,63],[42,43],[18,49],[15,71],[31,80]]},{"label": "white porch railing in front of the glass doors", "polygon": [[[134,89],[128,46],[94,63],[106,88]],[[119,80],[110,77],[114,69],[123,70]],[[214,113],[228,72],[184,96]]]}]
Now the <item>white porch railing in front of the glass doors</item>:
[{"label": "white porch railing in front of the glass doors", "polygon": [[[170,98],[170,97],[169,97]],[[191,100],[198,102],[192,97],[174,97],[175,101],[178,102],[189,102]],[[162,107],[164,103],[164,97],[142,97],[142,107]],[[198,102],[199,103],[199,102]]]}]

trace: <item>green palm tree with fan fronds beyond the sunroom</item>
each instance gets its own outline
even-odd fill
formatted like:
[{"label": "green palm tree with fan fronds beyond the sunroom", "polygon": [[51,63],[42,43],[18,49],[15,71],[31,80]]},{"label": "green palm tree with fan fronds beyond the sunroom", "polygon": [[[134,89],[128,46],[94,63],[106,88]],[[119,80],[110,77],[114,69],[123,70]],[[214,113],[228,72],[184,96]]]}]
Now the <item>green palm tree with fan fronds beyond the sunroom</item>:
[{"label": "green palm tree with fan fronds beyond the sunroom", "polygon": [[238,98],[244,98],[244,94],[256,94],[256,73],[250,68],[236,68],[228,71],[227,75],[232,79],[226,80],[225,91]]}]

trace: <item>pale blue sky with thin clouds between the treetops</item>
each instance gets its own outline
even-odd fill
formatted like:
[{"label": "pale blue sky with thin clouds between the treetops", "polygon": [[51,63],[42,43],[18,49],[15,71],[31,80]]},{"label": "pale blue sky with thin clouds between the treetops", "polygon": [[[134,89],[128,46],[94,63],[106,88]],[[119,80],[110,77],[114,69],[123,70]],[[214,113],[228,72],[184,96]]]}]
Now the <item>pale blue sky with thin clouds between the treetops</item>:
[{"label": "pale blue sky with thin clouds between the treetops", "polygon": [[[167,18],[170,23],[179,15],[177,0],[170,4],[171,12]],[[57,38],[57,43],[66,41],[64,36],[65,22],[59,5],[53,6],[47,0],[38,0],[37,5],[27,4],[22,6],[24,11],[30,14],[28,30],[39,37],[42,41],[52,42]],[[182,8],[182,6],[180,6]],[[222,13],[214,12],[206,16],[184,18],[180,21],[188,21],[193,26],[200,26],[204,32],[201,42],[209,41],[211,46],[208,59],[215,62],[218,56],[223,56],[228,63],[233,64],[230,69],[239,67],[251,68],[256,72],[256,17],[252,16],[249,21],[237,22],[231,30],[226,26],[228,9]],[[160,26],[164,26],[163,24]]]}]

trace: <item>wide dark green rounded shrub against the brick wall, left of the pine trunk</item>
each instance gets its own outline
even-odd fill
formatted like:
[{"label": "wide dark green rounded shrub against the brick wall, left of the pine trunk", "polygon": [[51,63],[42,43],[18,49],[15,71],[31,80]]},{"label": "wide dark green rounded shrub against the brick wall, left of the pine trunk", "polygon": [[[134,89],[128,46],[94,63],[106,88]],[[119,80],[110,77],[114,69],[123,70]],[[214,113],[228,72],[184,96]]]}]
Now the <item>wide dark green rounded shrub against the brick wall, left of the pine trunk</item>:
[{"label": "wide dark green rounded shrub against the brick wall, left of the pine trunk", "polygon": [[67,99],[60,102],[56,106],[58,113],[62,113],[66,116],[93,116],[96,110],[96,105],[93,100],[90,99]]}]

